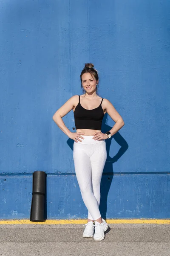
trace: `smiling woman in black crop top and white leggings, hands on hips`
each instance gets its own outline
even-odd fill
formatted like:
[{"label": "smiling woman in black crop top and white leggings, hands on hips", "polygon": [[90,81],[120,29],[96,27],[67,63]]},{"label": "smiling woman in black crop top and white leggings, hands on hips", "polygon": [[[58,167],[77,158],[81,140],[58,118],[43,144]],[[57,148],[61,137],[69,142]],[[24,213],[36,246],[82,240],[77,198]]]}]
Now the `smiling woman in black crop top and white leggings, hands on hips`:
[{"label": "smiling woman in black crop top and white leggings, hands on hips", "polygon": [[[109,100],[97,95],[99,77],[93,64],[85,64],[80,79],[85,93],[68,99],[54,114],[53,120],[74,140],[73,159],[76,177],[82,199],[88,209],[88,222],[85,224],[83,237],[94,237],[95,241],[101,241],[108,228],[99,212],[100,183],[107,158],[105,140],[116,134],[124,126],[124,121]],[[77,132],[69,131],[62,121],[62,117],[71,110],[74,111]],[[102,133],[102,119],[105,113],[108,113],[116,123],[110,131]]]}]

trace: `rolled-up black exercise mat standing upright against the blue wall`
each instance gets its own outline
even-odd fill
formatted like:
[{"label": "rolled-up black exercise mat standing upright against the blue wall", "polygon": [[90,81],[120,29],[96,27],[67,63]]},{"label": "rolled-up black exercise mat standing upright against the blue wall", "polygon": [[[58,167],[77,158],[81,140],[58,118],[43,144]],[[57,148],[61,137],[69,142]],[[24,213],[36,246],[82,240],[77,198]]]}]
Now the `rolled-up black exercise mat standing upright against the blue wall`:
[{"label": "rolled-up black exercise mat standing upright against the blue wall", "polygon": [[45,178],[45,172],[33,173],[30,221],[44,221]]}]

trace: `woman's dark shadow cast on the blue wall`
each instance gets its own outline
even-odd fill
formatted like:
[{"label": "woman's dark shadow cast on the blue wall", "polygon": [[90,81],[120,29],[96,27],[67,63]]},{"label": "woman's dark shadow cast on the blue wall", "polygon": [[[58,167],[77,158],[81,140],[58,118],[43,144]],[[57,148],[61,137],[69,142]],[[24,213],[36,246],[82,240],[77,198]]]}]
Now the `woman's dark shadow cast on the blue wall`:
[{"label": "woman's dark shadow cast on the blue wall", "polygon": [[[112,128],[111,126],[105,124],[107,116],[108,116],[108,113],[106,113],[103,118],[103,123],[102,123],[103,133],[111,130],[111,128]],[[115,140],[116,143],[118,143],[121,148],[119,149],[119,151],[117,152],[117,154],[115,156],[110,157],[109,152],[110,152],[112,140]],[[74,140],[68,139],[67,143],[68,143],[69,147],[73,150]],[[105,163],[102,180],[101,180],[101,188],[100,188],[101,198],[100,198],[100,205],[99,205],[99,210],[101,212],[102,218],[106,219],[108,192],[110,190],[111,183],[113,180],[113,175],[114,175],[113,163],[117,162],[119,160],[119,158],[122,157],[122,155],[125,153],[125,151],[127,151],[127,148],[128,148],[128,144],[127,144],[126,140],[121,136],[119,131],[116,132],[116,134],[114,134],[111,137],[111,139],[106,140],[107,160]]]}]

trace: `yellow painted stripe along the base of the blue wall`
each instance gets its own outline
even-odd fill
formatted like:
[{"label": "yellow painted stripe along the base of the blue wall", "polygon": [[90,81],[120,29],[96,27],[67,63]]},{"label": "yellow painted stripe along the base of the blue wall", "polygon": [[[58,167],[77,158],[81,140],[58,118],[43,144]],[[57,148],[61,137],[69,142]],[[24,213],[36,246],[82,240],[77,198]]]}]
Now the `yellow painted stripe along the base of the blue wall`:
[{"label": "yellow painted stripe along the base of the blue wall", "polygon": [[[170,224],[170,219],[106,219],[108,224]],[[85,224],[87,219],[72,219],[72,220],[46,220],[43,222],[22,220],[0,220],[0,224]]]}]

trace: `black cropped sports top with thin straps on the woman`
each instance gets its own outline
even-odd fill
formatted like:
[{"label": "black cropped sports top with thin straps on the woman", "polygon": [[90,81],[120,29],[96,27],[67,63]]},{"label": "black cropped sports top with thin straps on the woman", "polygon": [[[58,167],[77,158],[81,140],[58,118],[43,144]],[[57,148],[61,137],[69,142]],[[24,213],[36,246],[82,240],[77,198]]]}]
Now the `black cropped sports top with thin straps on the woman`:
[{"label": "black cropped sports top with thin straps on the woman", "polygon": [[77,129],[93,129],[93,130],[101,131],[102,119],[104,116],[103,109],[102,109],[102,101],[99,107],[97,108],[85,109],[80,104],[80,96],[79,96],[79,103],[77,104],[74,110],[76,130]]}]

